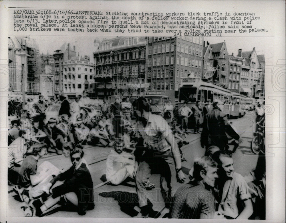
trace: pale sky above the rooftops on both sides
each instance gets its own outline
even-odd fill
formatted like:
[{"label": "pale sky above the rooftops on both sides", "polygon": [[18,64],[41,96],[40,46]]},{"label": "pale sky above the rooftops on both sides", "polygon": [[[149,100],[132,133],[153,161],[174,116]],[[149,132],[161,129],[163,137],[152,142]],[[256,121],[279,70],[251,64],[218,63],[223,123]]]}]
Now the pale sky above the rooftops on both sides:
[{"label": "pale sky above the rooftops on both sides", "polygon": [[[80,56],[89,55],[91,61],[93,61],[94,49],[94,39],[98,38],[102,40],[103,38],[114,38],[114,37],[96,37],[96,36],[30,36],[37,40],[39,44],[39,50],[42,54],[54,54],[54,51],[59,49],[64,43],[70,43],[71,46],[76,46],[76,52]],[[215,44],[219,42],[226,41],[227,50],[231,55],[234,53],[236,56],[238,49],[242,51],[252,50],[255,47],[257,54],[266,54],[267,57],[271,57],[271,45],[269,42],[271,40],[265,37],[205,37],[204,41],[210,42],[210,44]]]}]

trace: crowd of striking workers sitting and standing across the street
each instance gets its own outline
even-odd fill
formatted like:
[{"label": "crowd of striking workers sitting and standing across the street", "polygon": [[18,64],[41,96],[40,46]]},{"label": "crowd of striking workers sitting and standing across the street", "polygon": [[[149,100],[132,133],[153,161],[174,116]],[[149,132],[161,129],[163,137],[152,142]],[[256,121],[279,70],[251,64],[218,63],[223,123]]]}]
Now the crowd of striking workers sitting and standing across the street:
[{"label": "crowd of striking workers sitting and standing across the street", "polygon": [[[45,120],[45,109],[55,103],[61,104],[58,116]],[[203,108],[199,101],[192,108],[185,102],[178,112],[171,103],[164,105],[163,115],[156,115],[144,97],[132,103],[129,97],[117,97],[110,104],[91,100],[86,91],[73,102],[60,96],[48,103],[39,96],[31,106],[37,115],[11,120],[8,131],[8,183],[15,185],[15,192],[27,203],[25,216],[42,216],[63,206],[84,215],[95,207],[94,186],[82,150],[84,145],[93,145],[112,148],[102,181],[118,185],[129,177],[136,182],[143,218],[158,217],[147,198],[148,190],[155,187],[150,182],[154,173],[160,174],[170,218],[265,218],[257,208],[265,200],[265,166],[246,177],[235,172],[232,153],[243,140],[223,113],[223,102],[209,101]],[[90,117],[93,106],[100,112]],[[190,117],[193,133],[201,134],[205,155],[195,160],[190,181],[185,183],[182,162],[186,159],[180,148],[189,144],[185,138],[190,133]],[[229,145],[234,145],[233,151]],[[51,164],[37,167],[37,161],[47,152],[69,155],[72,167],[63,173],[43,174]],[[185,183],[174,196],[172,175]]]}]

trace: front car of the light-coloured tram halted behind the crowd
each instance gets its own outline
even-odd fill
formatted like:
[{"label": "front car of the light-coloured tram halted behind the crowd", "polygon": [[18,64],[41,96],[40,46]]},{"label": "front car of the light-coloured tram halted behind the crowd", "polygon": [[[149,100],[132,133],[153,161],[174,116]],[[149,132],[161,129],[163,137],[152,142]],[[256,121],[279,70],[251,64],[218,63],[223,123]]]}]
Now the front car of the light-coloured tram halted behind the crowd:
[{"label": "front car of the light-coloured tram halted behind the crowd", "polygon": [[187,101],[188,107],[192,108],[196,101],[200,101],[203,108],[207,101],[222,100],[225,104],[224,112],[228,117],[231,115],[231,91],[204,78],[182,78],[179,88],[178,109]]}]

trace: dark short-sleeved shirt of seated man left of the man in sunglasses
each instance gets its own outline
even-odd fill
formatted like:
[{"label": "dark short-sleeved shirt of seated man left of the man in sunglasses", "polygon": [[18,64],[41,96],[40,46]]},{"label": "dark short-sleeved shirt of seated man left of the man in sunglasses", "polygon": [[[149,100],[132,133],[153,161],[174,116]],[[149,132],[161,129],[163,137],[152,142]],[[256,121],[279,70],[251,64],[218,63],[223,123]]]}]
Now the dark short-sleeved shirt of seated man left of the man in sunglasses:
[{"label": "dark short-sleeved shirt of seated man left of the man in sunglasses", "polygon": [[30,175],[37,173],[37,160],[32,156],[27,156],[19,170],[19,185],[28,187],[31,185]]}]

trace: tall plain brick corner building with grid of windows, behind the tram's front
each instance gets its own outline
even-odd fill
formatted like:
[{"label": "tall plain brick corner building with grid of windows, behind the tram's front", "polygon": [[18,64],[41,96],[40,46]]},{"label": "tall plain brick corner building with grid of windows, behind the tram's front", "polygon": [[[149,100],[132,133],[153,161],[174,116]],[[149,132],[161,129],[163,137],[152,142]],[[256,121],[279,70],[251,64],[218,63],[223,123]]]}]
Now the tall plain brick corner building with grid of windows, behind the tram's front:
[{"label": "tall plain brick corner building with grid of windows, behind the tram's front", "polygon": [[148,37],[147,94],[169,96],[175,102],[181,78],[202,75],[202,37]]}]

